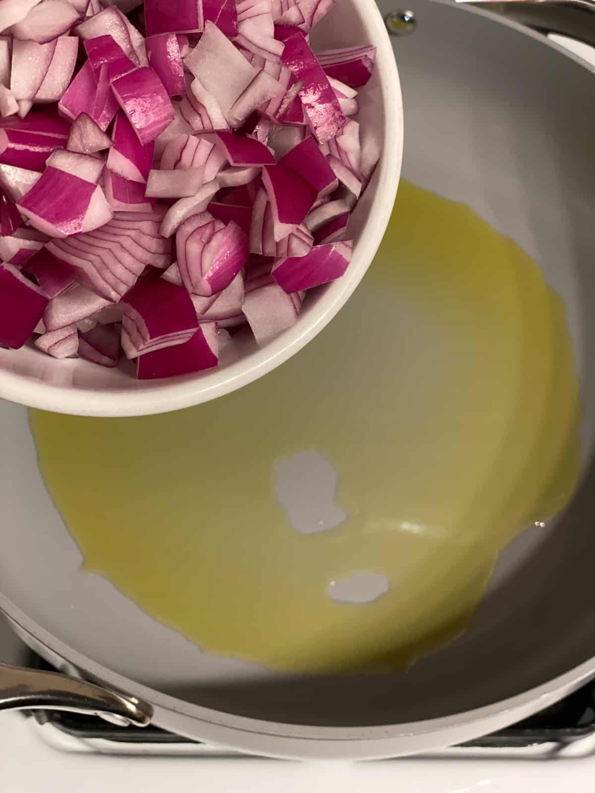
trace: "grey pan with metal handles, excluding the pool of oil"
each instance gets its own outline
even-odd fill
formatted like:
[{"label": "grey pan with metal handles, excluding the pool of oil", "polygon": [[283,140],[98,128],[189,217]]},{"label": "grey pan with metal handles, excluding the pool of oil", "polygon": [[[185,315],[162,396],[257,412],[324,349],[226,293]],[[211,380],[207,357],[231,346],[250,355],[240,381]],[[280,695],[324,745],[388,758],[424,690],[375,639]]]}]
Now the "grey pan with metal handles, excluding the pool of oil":
[{"label": "grey pan with metal handles, excluding the pool of oil", "polygon": [[563,297],[585,404],[584,473],[570,506],[505,550],[466,634],[408,672],[242,676],[235,661],[213,665],[101,577],[79,571],[79,551],[36,469],[26,412],[4,403],[0,608],[66,674],[0,666],[0,708],[153,722],[274,757],[363,759],[498,730],[595,676],[595,70],[543,35],[593,40],[593,5],[497,2],[499,16],[490,5],[411,0],[402,13],[380,2],[393,33],[410,33],[393,39],[403,176],[469,205],[539,262]]}]

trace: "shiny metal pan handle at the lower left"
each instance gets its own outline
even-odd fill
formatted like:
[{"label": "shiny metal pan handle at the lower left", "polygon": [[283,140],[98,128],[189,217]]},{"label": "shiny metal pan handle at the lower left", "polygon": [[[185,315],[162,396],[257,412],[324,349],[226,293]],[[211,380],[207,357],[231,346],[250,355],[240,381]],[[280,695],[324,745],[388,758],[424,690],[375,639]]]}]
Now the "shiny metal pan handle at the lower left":
[{"label": "shiny metal pan handle at the lower left", "polygon": [[97,715],[118,726],[145,727],[152,717],[146,703],[86,680],[0,664],[0,711],[46,709]]}]

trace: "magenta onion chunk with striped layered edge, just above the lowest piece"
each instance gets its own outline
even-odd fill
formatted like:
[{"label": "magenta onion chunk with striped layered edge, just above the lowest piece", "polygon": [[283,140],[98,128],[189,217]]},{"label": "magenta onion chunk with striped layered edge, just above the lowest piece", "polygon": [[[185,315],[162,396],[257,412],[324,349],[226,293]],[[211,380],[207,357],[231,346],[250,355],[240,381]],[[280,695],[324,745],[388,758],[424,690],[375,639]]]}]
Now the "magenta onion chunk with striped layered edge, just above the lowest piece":
[{"label": "magenta onion chunk with striped layered edge, just above the lowest piece", "polygon": [[122,303],[122,347],[129,358],[187,341],[198,329],[186,289],[163,278],[141,278]]}]

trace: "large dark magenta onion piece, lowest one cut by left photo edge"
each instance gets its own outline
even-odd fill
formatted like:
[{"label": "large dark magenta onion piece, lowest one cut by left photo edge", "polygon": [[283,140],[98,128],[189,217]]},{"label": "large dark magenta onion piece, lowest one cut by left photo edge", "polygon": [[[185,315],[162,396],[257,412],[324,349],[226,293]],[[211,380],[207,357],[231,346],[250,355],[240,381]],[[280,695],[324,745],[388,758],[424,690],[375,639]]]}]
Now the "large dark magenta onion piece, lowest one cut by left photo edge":
[{"label": "large dark magenta onion piece, lowest one cut by left photo edge", "polygon": [[44,316],[48,298],[12,264],[0,264],[0,344],[18,350]]}]

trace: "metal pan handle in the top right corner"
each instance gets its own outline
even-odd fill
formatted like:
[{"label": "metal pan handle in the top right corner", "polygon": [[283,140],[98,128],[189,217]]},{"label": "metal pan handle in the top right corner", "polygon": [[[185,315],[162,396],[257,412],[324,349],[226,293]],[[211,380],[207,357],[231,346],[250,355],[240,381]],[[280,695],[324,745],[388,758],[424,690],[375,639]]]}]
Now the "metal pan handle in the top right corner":
[{"label": "metal pan handle in the top right corner", "polygon": [[595,47],[594,0],[456,0],[492,11],[540,33],[559,33]]}]

